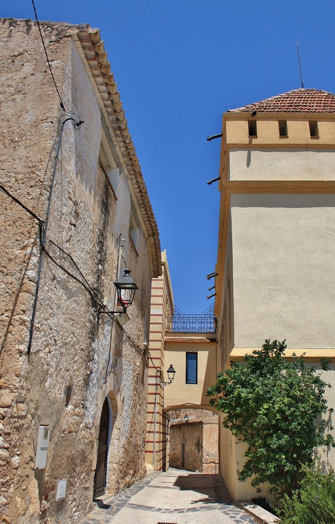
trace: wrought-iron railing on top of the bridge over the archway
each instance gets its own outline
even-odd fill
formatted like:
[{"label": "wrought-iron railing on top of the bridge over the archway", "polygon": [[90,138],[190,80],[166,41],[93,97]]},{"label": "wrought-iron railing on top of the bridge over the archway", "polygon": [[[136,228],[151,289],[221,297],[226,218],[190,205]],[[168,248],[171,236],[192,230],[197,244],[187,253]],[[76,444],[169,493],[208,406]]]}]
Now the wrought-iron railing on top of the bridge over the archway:
[{"label": "wrought-iron railing on top of the bridge over the archway", "polygon": [[176,306],[168,318],[168,331],[177,333],[215,333],[214,304],[203,313],[183,313]]}]

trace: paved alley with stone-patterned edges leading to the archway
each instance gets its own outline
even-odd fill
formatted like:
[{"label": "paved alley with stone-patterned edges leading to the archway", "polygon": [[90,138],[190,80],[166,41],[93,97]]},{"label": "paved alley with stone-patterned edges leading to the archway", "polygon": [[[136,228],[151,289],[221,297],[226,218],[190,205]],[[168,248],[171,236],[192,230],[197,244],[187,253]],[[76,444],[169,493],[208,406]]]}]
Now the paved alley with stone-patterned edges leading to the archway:
[{"label": "paved alley with stone-patterned edges leading to the archway", "polygon": [[105,496],[82,524],[255,524],[236,506],[220,475],[171,468]]}]

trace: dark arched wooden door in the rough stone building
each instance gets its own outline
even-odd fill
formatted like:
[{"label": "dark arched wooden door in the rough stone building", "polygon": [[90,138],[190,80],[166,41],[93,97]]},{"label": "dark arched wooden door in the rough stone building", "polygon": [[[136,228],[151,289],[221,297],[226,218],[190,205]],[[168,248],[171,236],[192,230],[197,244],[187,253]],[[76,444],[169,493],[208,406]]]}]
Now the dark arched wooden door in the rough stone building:
[{"label": "dark arched wooden door in the rough stone building", "polygon": [[108,430],[109,405],[107,398],[105,398],[100,418],[98,456],[94,476],[94,497],[99,497],[105,493],[108,455]]}]

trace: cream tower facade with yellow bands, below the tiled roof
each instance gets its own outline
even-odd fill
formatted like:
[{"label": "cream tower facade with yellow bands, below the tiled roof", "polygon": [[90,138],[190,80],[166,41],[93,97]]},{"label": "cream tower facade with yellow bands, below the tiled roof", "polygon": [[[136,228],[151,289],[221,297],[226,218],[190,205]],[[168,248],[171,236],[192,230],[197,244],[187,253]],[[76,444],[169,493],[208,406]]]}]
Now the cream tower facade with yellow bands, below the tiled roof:
[{"label": "cream tower facade with yellow bands, below the tiled roof", "polygon": [[[257,135],[250,137],[252,119]],[[287,136],[280,137],[283,119]],[[310,136],[309,121],[317,121],[318,137]],[[305,353],[317,370],[320,357],[332,359],[323,376],[333,386],[326,397],[335,408],[334,167],[334,114],[224,114],[217,367],[242,361],[265,338],[286,339],[287,357]],[[237,500],[257,496],[250,482],[238,479],[245,445],[219,426],[220,471],[231,494]],[[334,465],[333,450],[321,460]]]}]

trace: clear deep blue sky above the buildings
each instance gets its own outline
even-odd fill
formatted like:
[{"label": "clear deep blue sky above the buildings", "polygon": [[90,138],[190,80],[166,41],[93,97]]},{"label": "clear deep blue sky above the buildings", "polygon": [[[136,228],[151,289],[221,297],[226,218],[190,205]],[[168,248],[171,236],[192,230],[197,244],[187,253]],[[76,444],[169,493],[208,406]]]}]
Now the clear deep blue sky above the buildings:
[{"label": "clear deep blue sky above the buildings", "polygon": [[[166,249],[175,304],[204,311],[215,268],[222,113],[300,87],[335,92],[333,0],[35,0],[101,30]],[[32,18],[30,0],[0,16]]]}]

